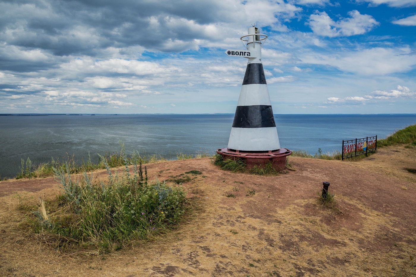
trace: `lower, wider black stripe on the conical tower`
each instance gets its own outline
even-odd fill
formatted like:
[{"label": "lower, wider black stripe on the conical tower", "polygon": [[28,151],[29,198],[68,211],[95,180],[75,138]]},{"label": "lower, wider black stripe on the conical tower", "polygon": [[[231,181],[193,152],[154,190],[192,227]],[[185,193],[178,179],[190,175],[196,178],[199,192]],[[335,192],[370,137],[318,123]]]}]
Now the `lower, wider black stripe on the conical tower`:
[{"label": "lower, wider black stripe on the conical tower", "polygon": [[237,106],[235,109],[234,128],[269,128],[276,127],[272,106],[253,105]]}]

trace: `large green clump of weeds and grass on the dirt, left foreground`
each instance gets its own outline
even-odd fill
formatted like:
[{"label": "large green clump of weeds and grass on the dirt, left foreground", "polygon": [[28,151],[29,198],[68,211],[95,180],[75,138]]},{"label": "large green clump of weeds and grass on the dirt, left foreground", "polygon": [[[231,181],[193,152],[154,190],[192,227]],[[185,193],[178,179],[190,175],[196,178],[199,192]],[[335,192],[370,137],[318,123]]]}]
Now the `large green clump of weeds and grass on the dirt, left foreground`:
[{"label": "large green clump of weeds and grass on the dirt, left foreground", "polygon": [[146,167],[122,174],[111,172],[107,180],[93,181],[84,173],[74,181],[67,169],[54,168],[61,193],[41,200],[28,217],[32,232],[47,234],[56,247],[76,245],[97,250],[121,249],[123,244],[154,233],[165,232],[181,220],[188,209],[182,187],[169,187],[158,180],[148,183]]}]

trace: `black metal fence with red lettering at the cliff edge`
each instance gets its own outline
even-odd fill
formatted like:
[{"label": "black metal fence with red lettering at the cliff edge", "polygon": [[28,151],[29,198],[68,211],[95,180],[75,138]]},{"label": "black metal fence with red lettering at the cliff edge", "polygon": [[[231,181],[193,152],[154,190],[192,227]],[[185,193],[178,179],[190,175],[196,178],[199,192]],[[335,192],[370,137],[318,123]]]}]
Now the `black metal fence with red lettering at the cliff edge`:
[{"label": "black metal fence with red lettering at the cliff edge", "polygon": [[377,136],[367,136],[366,138],[350,139],[342,141],[342,160],[344,158],[373,152],[377,150]]}]

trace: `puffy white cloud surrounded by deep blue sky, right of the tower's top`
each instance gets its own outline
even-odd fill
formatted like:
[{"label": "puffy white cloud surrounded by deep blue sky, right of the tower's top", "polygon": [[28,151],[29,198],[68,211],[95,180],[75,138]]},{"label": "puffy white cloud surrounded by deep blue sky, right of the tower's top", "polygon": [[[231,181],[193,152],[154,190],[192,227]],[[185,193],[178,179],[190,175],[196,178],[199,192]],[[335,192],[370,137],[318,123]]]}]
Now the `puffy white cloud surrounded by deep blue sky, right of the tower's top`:
[{"label": "puffy white cloud surrounded by deep blue sky, right of the tower's top", "polygon": [[380,23],[371,15],[362,15],[357,10],[348,12],[349,18],[337,22],[331,19],[326,12],[317,12],[310,15],[309,26],[314,34],[326,37],[349,37],[362,35]]}]

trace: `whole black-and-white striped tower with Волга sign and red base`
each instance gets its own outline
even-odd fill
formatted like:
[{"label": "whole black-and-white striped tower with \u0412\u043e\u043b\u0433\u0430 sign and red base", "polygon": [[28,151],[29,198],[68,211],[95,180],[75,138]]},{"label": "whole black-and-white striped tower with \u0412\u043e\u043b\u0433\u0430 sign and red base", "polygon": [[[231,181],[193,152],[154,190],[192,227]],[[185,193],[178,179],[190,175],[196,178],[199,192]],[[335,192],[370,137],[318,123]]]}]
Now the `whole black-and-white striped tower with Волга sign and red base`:
[{"label": "whole black-and-white striped tower with \u0412\u043e\u043b\u0433\u0430 sign and red base", "polygon": [[262,42],[267,35],[258,28],[248,28],[248,35],[240,38],[247,51],[228,49],[228,56],[248,58],[247,69],[235,110],[228,148],[218,149],[224,158],[239,157],[248,167],[272,162],[276,168],[283,168],[286,156],[292,151],[281,148],[277,135],[269,91],[261,62]]}]

